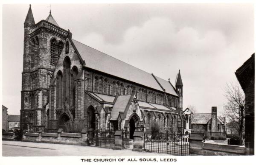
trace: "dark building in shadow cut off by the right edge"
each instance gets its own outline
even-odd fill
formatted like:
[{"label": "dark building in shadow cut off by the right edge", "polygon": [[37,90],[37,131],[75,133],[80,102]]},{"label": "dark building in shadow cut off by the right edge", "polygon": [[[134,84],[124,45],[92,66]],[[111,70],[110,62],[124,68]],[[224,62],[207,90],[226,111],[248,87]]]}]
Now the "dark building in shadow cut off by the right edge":
[{"label": "dark building in shadow cut off by the right edge", "polygon": [[254,70],[255,54],[236,70],[236,77],[245,94],[245,147],[254,155]]}]

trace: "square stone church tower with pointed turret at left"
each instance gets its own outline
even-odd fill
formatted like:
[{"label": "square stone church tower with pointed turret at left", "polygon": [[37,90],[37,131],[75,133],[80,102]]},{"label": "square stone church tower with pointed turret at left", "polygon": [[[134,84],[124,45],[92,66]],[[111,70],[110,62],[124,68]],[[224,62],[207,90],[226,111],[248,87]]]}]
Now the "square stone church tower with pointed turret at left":
[{"label": "square stone church tower with pointed turret at left", "polygon": [[35,24],[31,5],[24,22],[24,53],[20,129],[47,128],[49,84],[68,31],[60,28],[51,11]]}]

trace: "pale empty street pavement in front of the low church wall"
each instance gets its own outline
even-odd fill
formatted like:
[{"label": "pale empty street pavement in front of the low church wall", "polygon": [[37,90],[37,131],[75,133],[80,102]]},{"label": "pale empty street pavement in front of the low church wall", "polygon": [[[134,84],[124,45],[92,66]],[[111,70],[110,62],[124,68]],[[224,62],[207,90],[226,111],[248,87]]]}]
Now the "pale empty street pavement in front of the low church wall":
[{"label": "pale empty street pavement in front of the low church wall", "polygon": [[169,154],[113,150],[81,145],[2,141],[3,157],[32,156],[170,156]]}]

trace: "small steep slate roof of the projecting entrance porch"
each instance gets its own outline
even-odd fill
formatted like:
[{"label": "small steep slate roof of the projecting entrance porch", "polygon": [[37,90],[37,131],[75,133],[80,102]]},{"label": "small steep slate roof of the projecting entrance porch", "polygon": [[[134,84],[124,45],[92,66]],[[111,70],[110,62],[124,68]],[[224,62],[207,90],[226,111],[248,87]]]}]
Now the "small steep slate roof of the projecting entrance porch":
[{"label": "small steep slate roof of the projecting entrance porch", "polygon": [[111,120],[117,120],[119,112],[125,112],[125,108],[129,103],[130,98],[131,95],[121,95],[117,97],[116,102],[111,111]]}]

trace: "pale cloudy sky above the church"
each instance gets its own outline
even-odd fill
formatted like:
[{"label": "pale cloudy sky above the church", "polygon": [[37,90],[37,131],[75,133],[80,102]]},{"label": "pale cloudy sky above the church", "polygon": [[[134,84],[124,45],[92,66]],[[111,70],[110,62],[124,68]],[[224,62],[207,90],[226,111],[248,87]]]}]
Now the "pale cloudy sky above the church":
[{"label": "pale cloudy sky above the church", "polygon": [[[29,4],[3,5],[2,102],[20,114],[23,23]],[[224,89],[254,53],[253,4],[51,4],[73,39],[170,81],[180,70],[183,109],[224,111]],[[35,22],[49,4],[32,4]],[[136,73],[134,73],[136,74]]]}]

